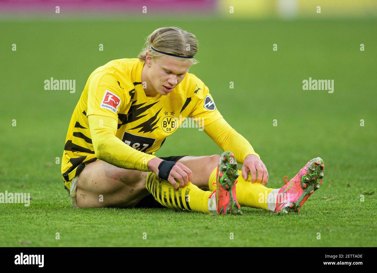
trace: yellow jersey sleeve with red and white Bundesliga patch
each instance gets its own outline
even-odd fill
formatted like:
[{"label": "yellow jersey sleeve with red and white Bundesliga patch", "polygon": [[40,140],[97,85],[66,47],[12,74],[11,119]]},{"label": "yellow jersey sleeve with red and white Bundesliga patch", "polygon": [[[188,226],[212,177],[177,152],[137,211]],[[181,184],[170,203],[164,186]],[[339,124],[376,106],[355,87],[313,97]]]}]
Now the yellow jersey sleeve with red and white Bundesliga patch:
[{"label": "yellow jersey sleeve with red and white Bundesliga patch", "polygon": [[88,87],[87,117],[101,115],[118,121],[120,109],[128,102],[125,92],[116,86],[116,79],[111,74],[97,72],[93,75]]}]

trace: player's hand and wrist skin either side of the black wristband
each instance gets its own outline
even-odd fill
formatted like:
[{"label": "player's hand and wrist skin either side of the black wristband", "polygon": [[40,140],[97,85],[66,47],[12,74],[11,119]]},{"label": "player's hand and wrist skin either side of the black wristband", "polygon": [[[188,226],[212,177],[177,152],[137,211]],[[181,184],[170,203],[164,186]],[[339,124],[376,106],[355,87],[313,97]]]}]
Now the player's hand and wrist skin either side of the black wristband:
[{"label": "player's hand and wrist skin either side of the black wristband", "polygon": [[[158,166],[162,162],[161,158],[153,158],[152,160],[148,161],[148,168],[154,172],[158,176]],[[167,181],[172,184],[175,190],[178,189],[177,182],[179,183],[179,187],[182,188],[185,185],[189,184],[192,180],[192,172],[189,168],[184,166],[182,163],[175,163],[173,168],[170,170],[169,177]]]}]

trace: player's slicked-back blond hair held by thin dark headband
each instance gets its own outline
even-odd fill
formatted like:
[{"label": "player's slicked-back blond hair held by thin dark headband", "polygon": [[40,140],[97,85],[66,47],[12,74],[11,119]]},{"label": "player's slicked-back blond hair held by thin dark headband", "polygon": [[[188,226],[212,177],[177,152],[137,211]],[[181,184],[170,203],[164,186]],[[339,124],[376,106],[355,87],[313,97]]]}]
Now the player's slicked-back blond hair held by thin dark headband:
[{"label": "player's slicked-back blond hair held by thin dark headband", "polygon": [[[148,52],[148,56],[152,58],[161,56],[160,53],[153,51],[151,46],[162,52],[182,56],[191,57],[198,52],[198,40],[196,40],[196,36],[174,26],[158,28],[146,38],[146,43],[138,55],[140,61],[145,62],[146,52]],[[199,61],[195,59],[182,60],[190,60],[192,64],[199,63]]]}]

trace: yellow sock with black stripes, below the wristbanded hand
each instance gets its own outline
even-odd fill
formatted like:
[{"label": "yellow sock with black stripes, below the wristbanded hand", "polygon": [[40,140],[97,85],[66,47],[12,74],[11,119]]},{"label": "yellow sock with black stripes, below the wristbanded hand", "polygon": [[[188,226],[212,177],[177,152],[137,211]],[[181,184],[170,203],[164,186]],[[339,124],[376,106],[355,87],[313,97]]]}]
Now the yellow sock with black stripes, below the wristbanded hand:
[{"label": "yellow sock with black stripes, below the wristbanded hand", "polygon": [[154,172],[149,172],[145,186],[164,207],[210,213],[208,210],[208,198],[211,192],[201,190],[191,182],[185,187],[175,190],[169,181],[159,178]]}]

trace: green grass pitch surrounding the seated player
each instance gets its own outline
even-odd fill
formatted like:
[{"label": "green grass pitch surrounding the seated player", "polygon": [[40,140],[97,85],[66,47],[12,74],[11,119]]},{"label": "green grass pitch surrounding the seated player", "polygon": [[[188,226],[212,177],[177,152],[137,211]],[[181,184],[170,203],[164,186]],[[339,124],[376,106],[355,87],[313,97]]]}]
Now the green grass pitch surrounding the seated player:
[{"label": "green grass pitch surrounding the seated player", "polygon": [[[107,61],[137,57],[144,37],[170,25],[198,37],[200,63],[190,72],[261,155],[268,186],[323,158],[323,183],[300,213],[71,207],[55,158],[87,77]],[[376,28],[375,20],[2,21],[0,192],[29,192],[32,200],[0,204],[0,247],[375,246]],[[51,77],[75,79],[76,92],[44,90]],[[334,80],[334,93],[303,90],[309,77]],[[204,132],[181,128],[156,155],[220,153]]]}]

